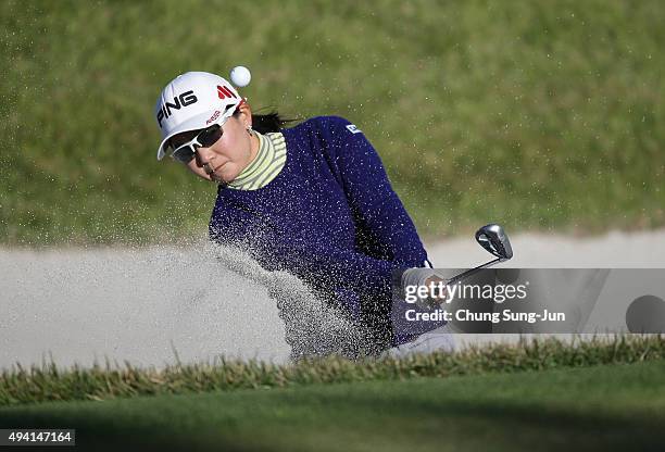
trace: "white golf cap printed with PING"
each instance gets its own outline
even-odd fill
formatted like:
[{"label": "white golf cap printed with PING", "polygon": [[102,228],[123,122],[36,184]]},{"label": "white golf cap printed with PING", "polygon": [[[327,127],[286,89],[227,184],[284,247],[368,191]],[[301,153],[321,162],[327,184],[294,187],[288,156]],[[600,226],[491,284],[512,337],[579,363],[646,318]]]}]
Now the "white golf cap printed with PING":
[{"label": "white golf cap printed with PING", "polygon": [[229,117],[242,98],[224,78],[208,72],[188,72],[174,78],[162,90],[154,115],[162,131],[158,160],[166,152],[164,145],[174,135],[219,124]]}]

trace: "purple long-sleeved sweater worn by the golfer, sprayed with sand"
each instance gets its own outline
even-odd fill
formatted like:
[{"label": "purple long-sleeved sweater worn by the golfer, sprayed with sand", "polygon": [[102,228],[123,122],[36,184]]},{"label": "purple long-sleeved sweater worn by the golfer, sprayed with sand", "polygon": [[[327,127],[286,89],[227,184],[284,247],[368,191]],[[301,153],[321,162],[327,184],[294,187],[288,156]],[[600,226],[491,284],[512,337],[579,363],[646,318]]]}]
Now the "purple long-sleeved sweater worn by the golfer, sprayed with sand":
[{"label": "purple long-sleeved sweater worn by the golfer, sprayed with sand", "polygon": [[424,266],[427,253],[379,156],[341,117],[281,133],[286,165],[258,190],[221,187],[211,239],[242,247],[266,269],[293,273],[385,330],[392,278]]}]

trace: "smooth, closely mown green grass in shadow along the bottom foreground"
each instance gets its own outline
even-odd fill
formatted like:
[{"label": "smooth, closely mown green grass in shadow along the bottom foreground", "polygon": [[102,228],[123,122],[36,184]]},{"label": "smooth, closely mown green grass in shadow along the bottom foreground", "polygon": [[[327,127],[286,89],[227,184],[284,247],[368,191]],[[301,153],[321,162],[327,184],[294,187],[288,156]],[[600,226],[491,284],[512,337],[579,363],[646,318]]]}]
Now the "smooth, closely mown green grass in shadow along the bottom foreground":
[{"label": "smooth, closely mown green grass in shadow along the bottom foreground", "polygon": [[665,361],[55,402],[2,427],[68,427],[77,445],[289,451],[660,450]]}]

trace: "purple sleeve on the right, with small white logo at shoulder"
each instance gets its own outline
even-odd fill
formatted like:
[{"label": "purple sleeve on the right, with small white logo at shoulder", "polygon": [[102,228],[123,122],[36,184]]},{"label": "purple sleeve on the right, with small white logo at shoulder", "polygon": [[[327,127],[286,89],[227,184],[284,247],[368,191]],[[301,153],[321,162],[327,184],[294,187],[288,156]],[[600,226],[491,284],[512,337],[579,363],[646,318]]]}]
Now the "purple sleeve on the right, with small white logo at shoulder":
[{"label": "purple sleeve on the right, with small white logo at shoulder", "polygon": [[369,254],[410,267],[430,266],[415,225],[372,143],[349,121],[327,120],[327,159],[361,226],[360,234],[369,243]]}]

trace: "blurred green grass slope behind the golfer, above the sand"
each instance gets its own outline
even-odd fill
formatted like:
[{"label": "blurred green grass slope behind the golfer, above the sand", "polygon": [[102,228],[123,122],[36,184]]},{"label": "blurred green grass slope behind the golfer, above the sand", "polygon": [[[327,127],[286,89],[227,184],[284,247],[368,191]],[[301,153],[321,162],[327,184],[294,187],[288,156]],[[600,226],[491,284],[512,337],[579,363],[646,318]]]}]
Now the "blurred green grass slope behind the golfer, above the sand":
[{"label": "blurred green grass slope behind the golfer, above the sand", "polygon": [[215,187],[156,162],[152,110],[179,73],[238,64],[255,110],[363,129],[428,238],[665,224],[660,1],[3,1],[0,17],[0,243],[203,236]]}]

